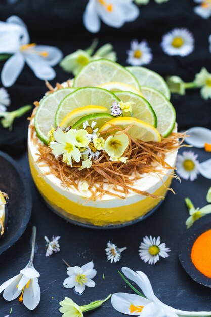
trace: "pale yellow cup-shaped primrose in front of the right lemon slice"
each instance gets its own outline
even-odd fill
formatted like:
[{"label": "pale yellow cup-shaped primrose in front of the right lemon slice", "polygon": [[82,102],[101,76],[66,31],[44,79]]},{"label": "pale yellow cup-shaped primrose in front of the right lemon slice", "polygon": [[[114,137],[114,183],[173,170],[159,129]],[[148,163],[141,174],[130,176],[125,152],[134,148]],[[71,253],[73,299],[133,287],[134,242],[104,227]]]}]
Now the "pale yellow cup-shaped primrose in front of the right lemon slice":
[{"label": "pale yellow cup-shaped primrose in front of the right lemon slice", "polygon": [[105,151],[110,157],[121,157],[128,144],[129,139],[125,133],[111,135],[105,141]]}]

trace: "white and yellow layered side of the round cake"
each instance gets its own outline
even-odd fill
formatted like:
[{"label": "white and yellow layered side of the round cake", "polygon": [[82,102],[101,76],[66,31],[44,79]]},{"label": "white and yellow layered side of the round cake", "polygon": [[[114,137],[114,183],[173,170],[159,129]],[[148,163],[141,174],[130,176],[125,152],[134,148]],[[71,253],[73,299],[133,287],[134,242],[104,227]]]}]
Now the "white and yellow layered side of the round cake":
[{"label": "white and yellow layered side of the round cake", "polygon": [[[49,172],[45,162],[37,163],[38,147],[28,134],[28,152],[31,174],[34,182],[49,207],[61,216],[81,224],[98,227],[126,224],[147,214],[154,209],[162,199],[146,197],[130,192],[125,199],[105,194],[101,199],[86,202],[91,193],[72,187],[66,187],[55,175]],[[145,177],[134,182],[134,188],[147,191],[156,196],[165,196],[170,187],[172,177],[169,173],[174,170],[177,150],[166,155],[165,161],[172,166],[172,170],[164,171],[165,175],[146,174]],[[110,189],[112,191],[112,189]]]}]

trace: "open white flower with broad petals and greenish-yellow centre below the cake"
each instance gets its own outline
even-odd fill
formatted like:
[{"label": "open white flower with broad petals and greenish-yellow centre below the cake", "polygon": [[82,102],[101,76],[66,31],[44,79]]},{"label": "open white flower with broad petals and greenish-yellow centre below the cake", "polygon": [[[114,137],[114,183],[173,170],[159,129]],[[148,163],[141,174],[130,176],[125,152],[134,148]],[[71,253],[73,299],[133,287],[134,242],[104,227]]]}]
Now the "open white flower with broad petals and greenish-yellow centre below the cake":
[{"label": "open white flower with broad petals and greenish-yellow centre below the cake", "polygon": [[74,287],[75,292],[82,294],[85,287],[95,287],[95,282],[92,280],[97,274],[94,269],[93,262],[89,262],[82,267],[74,266],[67,268],[67,275],[69,278],[64,280],[64,287],[72,288]]}]

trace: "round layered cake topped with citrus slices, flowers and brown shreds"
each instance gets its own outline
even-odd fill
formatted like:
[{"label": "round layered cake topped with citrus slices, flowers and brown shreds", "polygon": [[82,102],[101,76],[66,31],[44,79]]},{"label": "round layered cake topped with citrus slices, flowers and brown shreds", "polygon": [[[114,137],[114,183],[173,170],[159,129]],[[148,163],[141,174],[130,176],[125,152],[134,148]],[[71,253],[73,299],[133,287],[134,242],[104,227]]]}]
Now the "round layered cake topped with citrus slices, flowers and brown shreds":
[{"label": "round layered cake topped with citrus slices, flowers and brown shreds", "polygon": [[[91,77],[99,62],[90,63]],[[86,83],[80,72],[74,82],[48,84],[35,103],[28,130],[31,174],[47,205],[68,221],[96,228],[132,224],[170,189],[180,137],[175,117],[170,120],[174,108],[124,71],[125,82],[103,78],[99,85],[90,77]]]}]

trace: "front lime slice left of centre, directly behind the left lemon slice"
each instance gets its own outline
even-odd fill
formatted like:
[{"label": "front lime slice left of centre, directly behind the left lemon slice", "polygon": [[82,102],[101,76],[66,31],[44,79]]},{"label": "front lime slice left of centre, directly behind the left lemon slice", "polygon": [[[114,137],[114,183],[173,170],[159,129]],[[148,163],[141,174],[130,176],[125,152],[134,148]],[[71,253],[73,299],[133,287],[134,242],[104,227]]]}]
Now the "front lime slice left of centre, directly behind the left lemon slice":
[{"label": "front lime slice left of centre, directly behind the left lemon slice", "polygon": [[69,112],[78,107],[93,105],[110,109],[115,101],[119,102],[120,100],[114,93],[106,89],[98,87],[78,88],[61,101],[55,115],[55,125],[58,126]]}]

